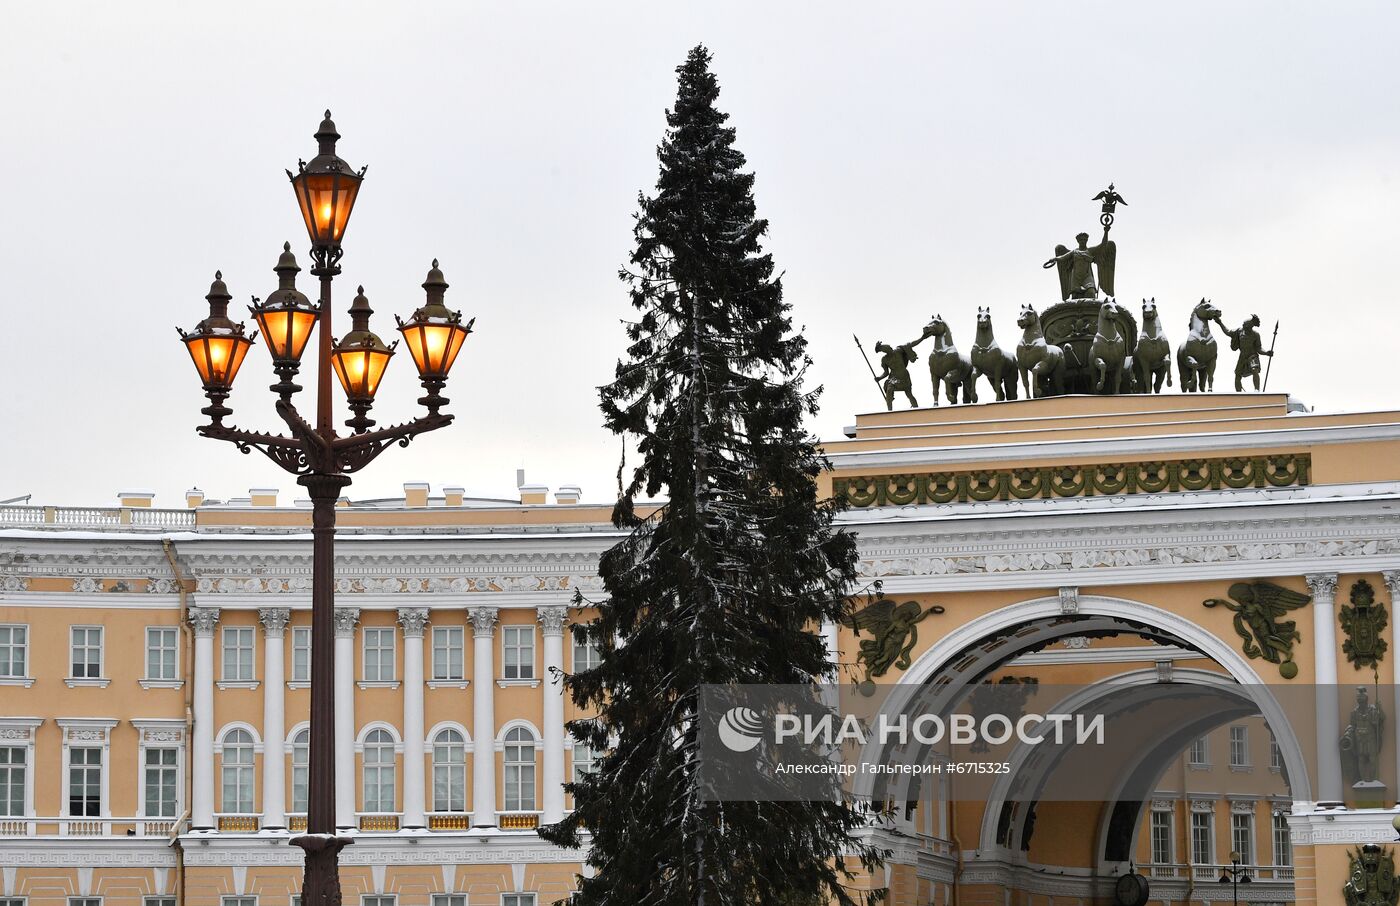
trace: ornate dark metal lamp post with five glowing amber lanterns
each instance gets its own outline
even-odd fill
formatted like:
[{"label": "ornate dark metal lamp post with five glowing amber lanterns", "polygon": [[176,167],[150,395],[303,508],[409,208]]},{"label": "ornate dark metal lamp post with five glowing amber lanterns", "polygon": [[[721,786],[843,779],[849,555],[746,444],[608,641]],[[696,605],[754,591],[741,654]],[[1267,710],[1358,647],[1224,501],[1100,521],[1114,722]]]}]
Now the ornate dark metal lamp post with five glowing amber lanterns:
[{"label": "ornate dark metal lamp post with five glowing amber lanterns", "polygon": [[[307,232],[311,235],[311,274],[321,280],[319,304],[297,291],[300,272],[291,245],[283,245],[277,260],[279,284],[266,301],[253,300],[252,315],[267,340],[273,368],[279,382],[272,391],[279,395],[276,409],[287,423],[290,435],[263,434],[225,426],[231,410],[224,405],[244,357],[256,340],[256,332],[246,333],[242,323],[228,318],[228,288],[223,274],[214,274],[209,295],[209,316],[193,332],[181,330],[204,385],[209,406],[200,412],[209,424],[199,433],[214,440],[235,444],[242,452],[258,449],[279,466],[297,476],[307,489],[312,504],[312,566],[311,566],[311,752],[307,795],[307,833],[291,843],[305,850],[305,879],[302,906],[340,906],[339,853],[353,842],[336,833],[336,777],[335,777],[335,531],[336,501],[350,483],[350,473],[367,466],[391,444],[407,447],[419,434],[447,427],[452,416],[438,410],[448,400],[441,396],[448,370],[472,332],[472,321],[462,323],[458,312],[442,302],[447,281],[437,260],[428,270],[423,288],[427,304],[413,312],[409,321],[399,321],[409,351],[419,368],[426,395],[419,399],[428,413],[405,424],[371,431],[368,417],[379,379],[393,356],[370,329],[370,301],[360,287],[350,307],[351,329],[336,342],[330,333],[330,283],[340,273],[344,235],[350,211],[364,181],[358,172],[336,155],[340,134],[330,120],[330,111],[316,130],[319,153],[309,162],[300,162],[295,174],[287,172]],[[301,391],[294,382],[301,354],[309,344],[312,329],[319,330],[316,356],[316,421],[308,423],[291,402]],[[337,435],[332,403],[332,371],[340,381],[351,410],[346,424],[353,433]]]}]

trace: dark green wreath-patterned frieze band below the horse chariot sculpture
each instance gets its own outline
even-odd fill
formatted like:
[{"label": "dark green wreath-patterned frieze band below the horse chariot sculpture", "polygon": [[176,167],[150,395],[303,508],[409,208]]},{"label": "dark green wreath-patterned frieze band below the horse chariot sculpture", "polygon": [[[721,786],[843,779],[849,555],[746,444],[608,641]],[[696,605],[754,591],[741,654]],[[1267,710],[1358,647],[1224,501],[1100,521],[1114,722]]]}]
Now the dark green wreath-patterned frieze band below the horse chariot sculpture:
[{"label": "dark green wreath-patterned frieze band below the horse chariot sculpture", "polygon": [[836,478],[832,492],[853,507],[1305,487],[1312,455],[1222,457],[1172,462],[974,469],[924,475]]}]

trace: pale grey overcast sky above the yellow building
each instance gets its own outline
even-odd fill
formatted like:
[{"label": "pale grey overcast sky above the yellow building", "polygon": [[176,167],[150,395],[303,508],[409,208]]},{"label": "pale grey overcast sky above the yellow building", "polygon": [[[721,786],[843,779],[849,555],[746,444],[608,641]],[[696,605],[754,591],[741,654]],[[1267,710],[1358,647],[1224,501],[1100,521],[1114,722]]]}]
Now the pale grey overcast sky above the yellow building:
[{"label": "pale grey overcast sky above the yellow building", "polygon": [[[990,7],[990,8],[988,8]],[[435,256],[476,316],[447,388],[456,424],[392,449],[356,497],[405,480],[514,493],[517,468],[587,500],[619,445],[595,386],[623,349],[616,272],[675,97],[714,52],[757,174],[822,437],[879,407],[854,344],[979,305],[1002,344],[1058,301],[1040,263],[1093,230],[1109,181],[1117,293],[1155,295],[1172,343],[1208,295],[1282,321],[1271,389],[1319,410],[1400,399],[1400,64],[1393,3],[18,3],[0,28],[0,499],[179,506],[301,489],[195,434],[174,326],[223,269],[237,311],[307,238],[283,168],[335,112],[370,174],[336,280],[381,336]],[[311,279],[302,274],[309,291]],[[1226,360],[1217,372],[1229,389]],[[916,389],[930,396],[917,365]],[[232,421],[276,428],[266,347]],[[374,414],[412,417],[407,353]],[[311,400],[308,399],[308,405]]]}]

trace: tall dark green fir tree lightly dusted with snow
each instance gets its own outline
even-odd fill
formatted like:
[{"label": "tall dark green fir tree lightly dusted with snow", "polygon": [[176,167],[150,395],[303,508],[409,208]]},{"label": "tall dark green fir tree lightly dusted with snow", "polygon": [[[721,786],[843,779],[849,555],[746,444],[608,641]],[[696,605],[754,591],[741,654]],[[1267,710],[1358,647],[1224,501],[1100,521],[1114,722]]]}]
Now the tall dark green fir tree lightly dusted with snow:
[{"label": "tall dark green fir tree lightly dusted with snow", "polygon": [[[598,716],[570,732],[606,753],[540,833],[591,835],[577,906],[850,906],[868,895],[850,889],[848,858],[879,856],[857,839],[861,812],[701,790],[701,686],[820,682],[832,665],[816,626],[846,612],[857,556],[833,528],[837,504],[818,497],[825,464],[802,419],[819,391],[802,388],[806,342],[760,245],[767,221],[715,109],[710,52],[676,71],[657,192],[638,199],[620,272],[640,315],[601,388],[606,426],[641,458],[613,513],[630,534],[602,557],[598,618],[577,629],[602,661],[566,678]],[[636,507],[659,496],[655,513]]]}]

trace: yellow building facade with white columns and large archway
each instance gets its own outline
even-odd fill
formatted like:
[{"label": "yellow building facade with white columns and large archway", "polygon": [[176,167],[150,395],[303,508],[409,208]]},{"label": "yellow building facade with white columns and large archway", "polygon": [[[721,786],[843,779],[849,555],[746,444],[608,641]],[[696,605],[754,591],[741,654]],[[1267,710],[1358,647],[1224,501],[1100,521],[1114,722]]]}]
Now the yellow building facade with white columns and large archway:
[{"label": "yellow building facade with white columns and large archway", "polygon": [[[1004,676],[1082,688],[1071,710],[1112,710],[1127,690],[1242,703],[1124,751],[1112,801],[1018,800],[1016,783],[1093,769],[1029,751],[981,801],[946,777],[858,781],[888,807],[865,833],[890,851],[861,885],[895,906],[1096,905],[1140,872],[1152,903],[1214,902],[1235,850],[1243,902],[1336,903],[1348,850],[1394,839],[1394,620],[1390,653],[1362,671],[1338,608],[1359,580],[1386,606],[1400,590],[1400,412],[1067,396],[862,414],[825,448],[822,487],[851,504],[864,578],[944,608],[881,678],[893,706]],[[596,657],[568,633],[588,618],[573,597],[601,594],[617,534],[610,506],[578,500],[412,483],[339,510],[347,903],[543,906],[584,870],[535,832],[592,762],[563,730],[577,714],[554,678]],[[0,507],[0,906],[290,905],[309,508],[270,490],[120,503]],[[1291,615],[1291,678],[1249,657],[1229,611],[1203,606],[1252,581],[1310,599]],[[819,630],[843,683],[860,679],[861,637]],[[1343,774],[1344,704],[1308,721],[1278,704],[1309,685],[1379,690],[1383,793]]]}]

